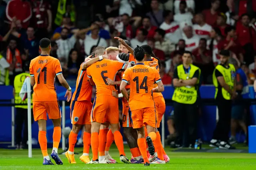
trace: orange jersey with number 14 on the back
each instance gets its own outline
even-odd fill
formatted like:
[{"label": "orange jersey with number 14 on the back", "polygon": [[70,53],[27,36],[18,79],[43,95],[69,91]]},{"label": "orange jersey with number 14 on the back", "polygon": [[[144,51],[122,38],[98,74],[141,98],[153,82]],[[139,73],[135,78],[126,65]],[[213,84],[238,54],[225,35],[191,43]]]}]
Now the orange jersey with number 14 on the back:
[{"label": "orange jersey with number 14 on the back", "polygon": [[155,107],[152,89],[154,88],[154,83],[161,81],[161,78],[154,67],[144,65],[144,63],[137,63],[124,71],[122,81],[126,83],[130,81],[129,107],[131,111]]}]

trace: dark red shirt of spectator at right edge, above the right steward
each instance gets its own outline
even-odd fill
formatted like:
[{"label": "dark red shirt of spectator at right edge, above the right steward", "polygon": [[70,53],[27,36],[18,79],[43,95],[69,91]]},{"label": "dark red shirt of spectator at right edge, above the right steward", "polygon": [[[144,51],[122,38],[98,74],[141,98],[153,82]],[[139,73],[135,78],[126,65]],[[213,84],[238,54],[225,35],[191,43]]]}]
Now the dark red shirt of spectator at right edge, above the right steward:
[{"label": "dark red shirt of spectator at right edge, above the right steward", "polygon": [[242,24],[236,27],[237,39],[242,46],[247,43],[254,43],[256,40],[256,32],[252,27],[245,27]]}]

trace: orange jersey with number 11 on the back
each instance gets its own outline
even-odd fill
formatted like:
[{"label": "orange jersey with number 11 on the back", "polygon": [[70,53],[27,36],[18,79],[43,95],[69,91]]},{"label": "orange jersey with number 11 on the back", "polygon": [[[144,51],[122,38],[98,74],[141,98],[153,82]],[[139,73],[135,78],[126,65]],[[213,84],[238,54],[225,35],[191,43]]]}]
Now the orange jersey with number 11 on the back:
[{"label": "orange jersey with number 11 on the back", "polygon": [[60,61],[49,55],[39,55],[31,60],[29,70],[35,78],[33,101],[58,101],[55,77],[62,74]]}]

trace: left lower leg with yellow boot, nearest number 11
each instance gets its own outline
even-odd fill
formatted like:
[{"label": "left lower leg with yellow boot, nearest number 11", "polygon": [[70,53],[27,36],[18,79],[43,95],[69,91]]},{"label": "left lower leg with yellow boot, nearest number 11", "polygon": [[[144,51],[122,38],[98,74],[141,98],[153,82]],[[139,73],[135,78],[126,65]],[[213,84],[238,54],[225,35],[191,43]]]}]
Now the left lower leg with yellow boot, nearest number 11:
[{"label": "left lower leg with yellow boot, nearest number 11", "polygon": [[77,140],[77,134],[82,128],[83,125],[72,125],[72,130],[68,136],[68,151],[65,153],[66,158],[68,158],[68,162],[70,164],[76,164],[76,160],[74,157],[74,148]]}]

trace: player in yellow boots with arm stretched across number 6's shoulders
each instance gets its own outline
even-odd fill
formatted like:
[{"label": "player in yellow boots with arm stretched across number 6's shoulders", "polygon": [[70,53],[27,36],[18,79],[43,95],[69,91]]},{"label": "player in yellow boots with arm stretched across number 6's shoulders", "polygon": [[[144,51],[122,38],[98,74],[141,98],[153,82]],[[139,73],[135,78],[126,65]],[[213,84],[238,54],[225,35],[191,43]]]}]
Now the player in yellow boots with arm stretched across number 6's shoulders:
[{"label": "player in yellow boots with arm stretched across number 6's shoulders", "polygon": [[92,55],[87,57],[85,61],[80,65],[78,77],[76,80],[76,90],[74,91],[72,101],[70,103],[72,130],[68,136],[69,148],[65,155],[68,158],[68,162],[71,164],[76,164],[74,158],[74,146],[76,144],[78,132],[84,125],[84,150],[82,156],[80,156],[80,160],[84,163],[90,162],[89,149],[91,138],[90,113],[92,111],[92,85],[88,80],[86,68],[102,58],[108,58],[107,55],[103,55],[102,58],[95,57],[91,59],[91,56]]}]

